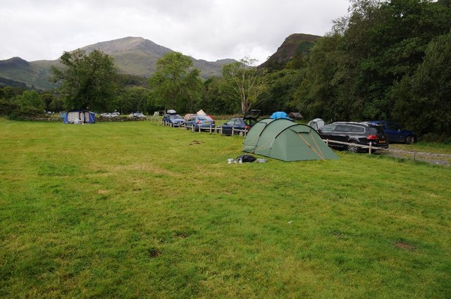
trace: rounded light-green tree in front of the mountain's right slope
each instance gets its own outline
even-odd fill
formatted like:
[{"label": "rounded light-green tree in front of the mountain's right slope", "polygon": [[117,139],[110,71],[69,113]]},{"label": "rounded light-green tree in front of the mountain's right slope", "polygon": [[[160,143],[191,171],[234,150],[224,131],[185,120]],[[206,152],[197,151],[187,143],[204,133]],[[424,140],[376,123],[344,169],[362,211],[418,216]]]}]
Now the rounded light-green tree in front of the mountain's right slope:
[{"label": "rounded light-green tree in front of the mountain's right slope", "polygon": [[156,72],[149,79],[152,96],[165,108],[190,110],[199,100],[202,89],[200,71],[192,68],[190,57],[179,52],[166,53],[156,63]]}]

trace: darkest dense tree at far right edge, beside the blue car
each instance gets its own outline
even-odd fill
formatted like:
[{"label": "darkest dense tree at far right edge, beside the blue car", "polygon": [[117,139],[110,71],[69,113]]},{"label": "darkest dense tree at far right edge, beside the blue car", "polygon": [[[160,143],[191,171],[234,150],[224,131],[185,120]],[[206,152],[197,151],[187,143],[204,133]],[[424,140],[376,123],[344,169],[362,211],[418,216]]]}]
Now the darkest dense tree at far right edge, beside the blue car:
[{"label": "darkest dense tree at far right edge, beside the blue car", "polygon": [[451,136],[451,32],[428,45],[423,63],[392,95],[397,120],[419,134]]}]

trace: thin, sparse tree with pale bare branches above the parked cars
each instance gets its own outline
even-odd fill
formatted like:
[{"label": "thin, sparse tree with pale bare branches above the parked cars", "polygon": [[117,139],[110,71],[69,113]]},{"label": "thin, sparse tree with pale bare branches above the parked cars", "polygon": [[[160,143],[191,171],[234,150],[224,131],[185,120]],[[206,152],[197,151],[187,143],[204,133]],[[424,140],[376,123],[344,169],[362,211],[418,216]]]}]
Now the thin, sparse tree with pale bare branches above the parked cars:
[{"label": "thin, sparse tree with pale bare branches above the parked cars", "polygon": [[241,112],[246,113],[253,105],[261,101],[261,94],[266,91],[265,70],[254,67],[255,59],[242,58],[240,62],[223,66],[223,78],[229,87],[225,93],[232,101],[241,105]]}]

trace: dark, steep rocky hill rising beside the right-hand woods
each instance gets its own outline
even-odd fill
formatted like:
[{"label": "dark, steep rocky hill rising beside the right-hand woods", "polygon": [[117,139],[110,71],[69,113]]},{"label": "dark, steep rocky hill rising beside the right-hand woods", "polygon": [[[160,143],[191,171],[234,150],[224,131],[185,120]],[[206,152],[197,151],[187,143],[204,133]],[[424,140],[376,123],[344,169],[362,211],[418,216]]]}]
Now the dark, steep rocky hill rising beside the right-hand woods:
[{"label": "dark, steep rocky hill rising beside the right-hand woods", "polygon": [[261,63],[259,68],[280,69],[297,55],[308,55],[311,48],[320,37],[318,35],[295,33],[285,39],[267,61]]}]

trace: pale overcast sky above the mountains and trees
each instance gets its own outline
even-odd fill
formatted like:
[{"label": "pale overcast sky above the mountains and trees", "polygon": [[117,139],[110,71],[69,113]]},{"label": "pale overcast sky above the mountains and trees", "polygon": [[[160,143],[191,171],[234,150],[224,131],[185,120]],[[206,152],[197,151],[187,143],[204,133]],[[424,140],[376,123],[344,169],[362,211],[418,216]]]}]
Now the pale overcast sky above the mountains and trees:
[{"label": "pale overcast sky above the mountains and trees", "polygon": [[0,60],[54,60],[63,51],[144,37],[206,61],[259,63],[288,35],[324,35],[347,0],[0,0]]}]

